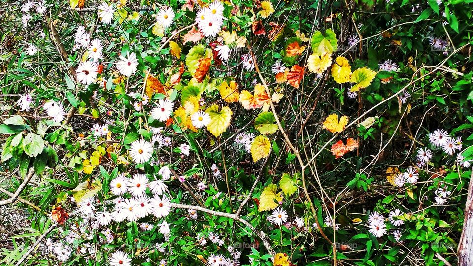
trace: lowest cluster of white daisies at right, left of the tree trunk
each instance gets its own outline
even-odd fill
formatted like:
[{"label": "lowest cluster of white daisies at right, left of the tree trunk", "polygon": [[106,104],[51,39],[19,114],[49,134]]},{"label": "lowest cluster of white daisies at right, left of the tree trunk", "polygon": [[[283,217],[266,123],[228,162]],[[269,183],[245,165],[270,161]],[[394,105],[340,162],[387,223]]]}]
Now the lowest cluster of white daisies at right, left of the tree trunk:
[{"label": "lowest cluster of white daisies at right, left of the tree trunk", "polygon": [[[400,209],[394,209],[389,212],[388,221],[394,227],[399,227],[404,224],[404,221],[399,219],[399,217],[403,216],[404,213]],[[386,228],[386,218],[382,214],[377,211],[373,211],[368,216],[368,228],[369,232],[379,238],[383,237],[387,232],[388,229]],[[401,238],[402,232],[400,230],[393,231],[393,237],[396,241],[399,242]]]}]

